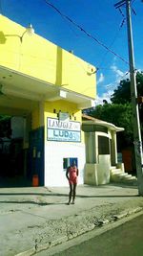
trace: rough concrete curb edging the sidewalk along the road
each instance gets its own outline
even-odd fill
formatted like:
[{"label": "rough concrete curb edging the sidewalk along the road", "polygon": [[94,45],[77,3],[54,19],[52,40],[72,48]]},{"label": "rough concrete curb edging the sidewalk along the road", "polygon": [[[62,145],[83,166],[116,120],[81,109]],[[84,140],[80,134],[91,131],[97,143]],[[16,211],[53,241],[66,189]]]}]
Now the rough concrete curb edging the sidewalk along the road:
[{"label": "rough concrete curb edging the sidewalk along the road", "polygon": [[121,212],[118,215],[113,215],[112,219],[110,218],[110,220],[104,219],[104,220],[99,220],[96,224],[93,224],[93,223],[91,224],[90,223],[85,228],[78,230],[78,232],[69,234],[67,236],[60,237],[60,238],[58,238],[56,240],[53,240],[53,241],[51,241],[49,243],[46,243],[46,244],[39,244],[38,245],[37,242],[35,242],[34,247],[31,247],[31,249],[29,249],[29,250],[20,252],[20,253],[16,254],[15,256],[31,256],[31,255],[34,255],[37,252],[40,252],[42,250],[47,250],[47,249],[49,249],[49,248],[51,248],[55,245],[62,244],[64,242],[70,241],[70,240],[72,240],[73,238],[75,238],[77,236],[80,236],[80,235],[83,235],[83,234],[85,234],[89,231],[92,231],[94,228],[97,228],[97,227],[100,228],[103,225],[108,225],[109,223],[112,223],[113,221],[119,221],[119,220],[121,220],[123,218],[126,218],[128,216],[131,216],[135,213],[141,212],[142,210],[143,210],[143,207],[136,207],[136,208],[133,208],[132,210],[129,209],[127,211]]}]

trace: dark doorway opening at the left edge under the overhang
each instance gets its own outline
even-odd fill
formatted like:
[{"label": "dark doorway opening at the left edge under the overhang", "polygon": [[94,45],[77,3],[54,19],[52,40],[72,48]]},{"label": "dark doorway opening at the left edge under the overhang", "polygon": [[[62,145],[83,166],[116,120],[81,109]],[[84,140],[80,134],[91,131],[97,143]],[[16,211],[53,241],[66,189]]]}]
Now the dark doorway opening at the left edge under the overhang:
[{"label": "dark doorway opening at the left edge under the overhang", "polygon": [[0,187],[29,186],[31,182],[26,174],[27,150],[23,148],[24,138],[19,136],[19,130],[17,136],[13,136],[11,118],[0,116]]}]

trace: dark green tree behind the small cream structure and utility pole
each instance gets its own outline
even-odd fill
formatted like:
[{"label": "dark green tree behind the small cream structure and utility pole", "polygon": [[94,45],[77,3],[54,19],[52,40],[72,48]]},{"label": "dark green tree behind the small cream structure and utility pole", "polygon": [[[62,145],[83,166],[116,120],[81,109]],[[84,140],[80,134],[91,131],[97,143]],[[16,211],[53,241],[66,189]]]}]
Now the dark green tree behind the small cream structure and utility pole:
[{"label": "dark green tree behind the small cream structure and utility pole", "polygon": [[[136,84],[138,96],[143,96],[143,72],[136,73]],[[97,105],[91,109],[89,114],[95,118],[107,121],[117,127],[125,128],[124,132],[119,132],[119,142],[121,147],[133,145],[133,123],[131,104],[131,83],[130,80],[119,82],[118,87],[113,91],[111,97],[112,104]],[[140,124],[143,134],[143,104],[139,105]]]}]

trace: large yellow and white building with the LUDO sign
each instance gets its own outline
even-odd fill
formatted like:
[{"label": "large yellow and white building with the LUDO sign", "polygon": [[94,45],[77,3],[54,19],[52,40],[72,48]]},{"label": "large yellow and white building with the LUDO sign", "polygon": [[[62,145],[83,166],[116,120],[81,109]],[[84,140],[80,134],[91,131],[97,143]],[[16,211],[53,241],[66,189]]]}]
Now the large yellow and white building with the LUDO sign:
[{"label": "large yellow and white building with the LUDO sign", "polygon": [[[3,15],[0,25],[0,115],[11,116],[10,164],[3,175],[6,171],[30,180],[38,175],[40,185],[64,186],[74,159],[82,184],[86,147],[81,110],[94,103],[95,67],[39,35],[30,36]],[[5,135],[1,149],[8,141]],[[3,169],[6,162],[5,154]]]}]

